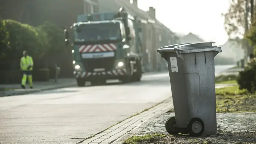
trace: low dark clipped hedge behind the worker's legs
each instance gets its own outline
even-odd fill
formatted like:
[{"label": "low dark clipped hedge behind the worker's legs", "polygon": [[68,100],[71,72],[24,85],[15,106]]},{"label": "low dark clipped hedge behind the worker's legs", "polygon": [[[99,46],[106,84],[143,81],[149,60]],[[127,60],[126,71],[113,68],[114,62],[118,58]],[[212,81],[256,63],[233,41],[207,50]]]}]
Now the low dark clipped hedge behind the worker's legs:
[{"label": "low dark clipped hedge behind the worker's legs", "polygon": [[[20,70],[0,71],[0,84],[19,84],[21,83],[22,72]],[[49,69],[33,70],[34,82],[49,81]]]}]

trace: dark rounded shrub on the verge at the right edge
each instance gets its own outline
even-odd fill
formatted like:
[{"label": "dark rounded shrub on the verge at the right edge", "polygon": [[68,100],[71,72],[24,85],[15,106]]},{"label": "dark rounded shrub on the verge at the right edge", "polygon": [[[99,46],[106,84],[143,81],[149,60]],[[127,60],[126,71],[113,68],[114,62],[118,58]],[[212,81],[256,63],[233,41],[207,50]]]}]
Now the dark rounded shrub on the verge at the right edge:
[{"label": "dark rounded shrub on the verge at the right edge", "polygon": [[240,71],[237,77],[237,84],[239,89],[246,89],[251,93],[256,91],[256,59],[253,59]]}]

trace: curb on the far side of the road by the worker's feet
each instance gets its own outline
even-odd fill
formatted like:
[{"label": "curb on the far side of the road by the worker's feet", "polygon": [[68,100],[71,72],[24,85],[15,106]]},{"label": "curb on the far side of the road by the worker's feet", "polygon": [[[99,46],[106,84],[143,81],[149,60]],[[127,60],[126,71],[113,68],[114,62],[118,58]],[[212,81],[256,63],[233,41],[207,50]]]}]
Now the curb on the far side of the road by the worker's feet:
[{"label": "curb on the far side of the road by the worker's feet", "polygon": [[59,85],[59,86],[47,87],[47,88],[36,89],[36,90],[19,91],[19,92],[13,91],[13,93],[8,93],[8,91],[6,91],[7,93],[0,94],[0,97],[16,96],[16,95],[25,95],[25,94],[29,94],[29,93],[42,92],[42,91],[48,91],[48,90],[55,90],[55,89],[60,89],[60,88],[65,88],[65,87],[71,87],[71,86],[75,86],[75,85],[76,85],[76,84]]}]

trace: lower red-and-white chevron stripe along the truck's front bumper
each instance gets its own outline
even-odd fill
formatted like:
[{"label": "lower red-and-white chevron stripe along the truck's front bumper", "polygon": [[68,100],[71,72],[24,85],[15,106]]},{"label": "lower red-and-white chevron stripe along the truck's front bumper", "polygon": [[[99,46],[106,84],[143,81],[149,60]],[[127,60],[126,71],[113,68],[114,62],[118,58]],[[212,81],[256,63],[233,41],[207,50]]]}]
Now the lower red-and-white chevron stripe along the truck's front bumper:
[{"label": "lower red-and-white chevron stripe along the truck's front bumper", "polygon": [[76,78],[78,77],[88,77],[88,76],[101,76],[101,75],[111,75],[111,76],[124,76],[126,74],[126,69],[115,69],[107,72],[77,72],[74,73]]}]

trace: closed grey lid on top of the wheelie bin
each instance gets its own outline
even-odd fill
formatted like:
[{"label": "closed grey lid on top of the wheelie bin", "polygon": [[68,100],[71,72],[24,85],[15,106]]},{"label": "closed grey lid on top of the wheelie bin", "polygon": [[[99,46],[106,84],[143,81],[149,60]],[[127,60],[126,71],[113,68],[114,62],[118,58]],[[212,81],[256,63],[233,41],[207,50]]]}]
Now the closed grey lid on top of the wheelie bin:
[{"label": "closed grey lid on top of the wheelie bin", "polygon": [[179,52],[179,54],[195,52],[222,52],[220,47],[212,46],[212,43],[214,42],[173,44],[161,47],[157,49],[157,52]]}]

